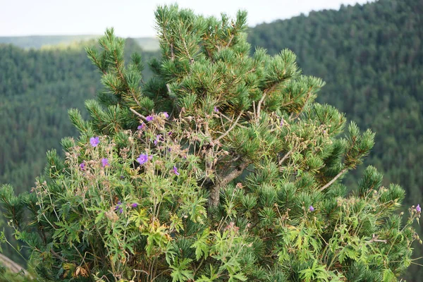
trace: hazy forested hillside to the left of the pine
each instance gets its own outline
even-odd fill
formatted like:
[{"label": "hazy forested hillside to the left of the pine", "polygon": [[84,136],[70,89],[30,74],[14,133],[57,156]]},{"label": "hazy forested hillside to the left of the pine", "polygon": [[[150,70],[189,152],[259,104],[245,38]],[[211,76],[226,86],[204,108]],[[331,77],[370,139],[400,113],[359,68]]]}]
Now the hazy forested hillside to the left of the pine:
[{"label": "hazy forested hillside to the left of the pine", "polygon": [[[62,137],[76,133],[68,109],[83,110],[101,90],[87,44],[94,43],[40,50],[0,44],[0,183],[30,189],[47,149],[59,149]],[[133,40],[126,49],[142,53]]]}]

